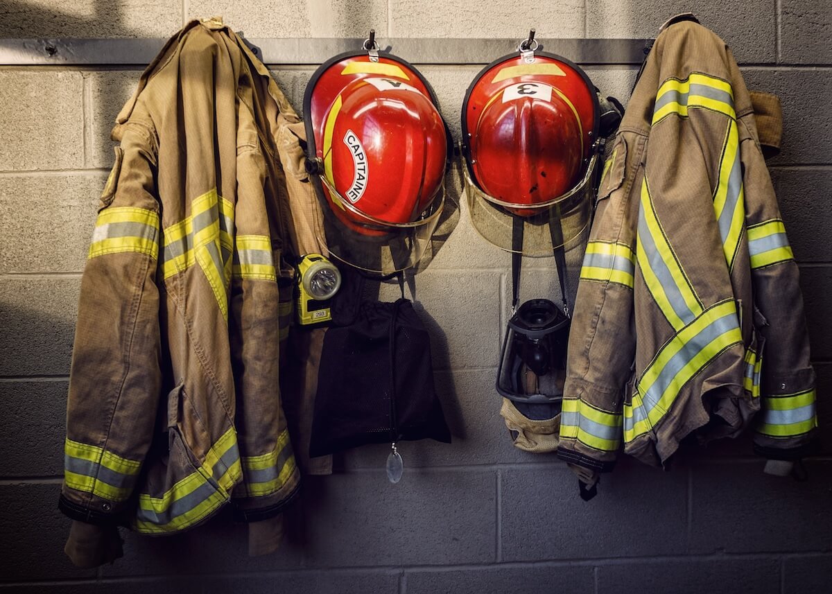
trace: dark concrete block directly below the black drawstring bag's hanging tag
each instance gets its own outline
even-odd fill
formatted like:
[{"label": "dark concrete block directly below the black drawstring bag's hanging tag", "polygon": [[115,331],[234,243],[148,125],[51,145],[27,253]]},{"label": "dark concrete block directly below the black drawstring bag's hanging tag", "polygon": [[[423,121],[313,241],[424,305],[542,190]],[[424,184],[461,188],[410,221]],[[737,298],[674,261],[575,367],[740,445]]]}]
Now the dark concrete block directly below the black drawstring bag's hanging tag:
[{"label": "dark concrete block directly below the black drawstring bag's hanging tag", "polygon": [[305,478],[305,567],[488,563],[496,479],[490,471],[408,468]]}]

